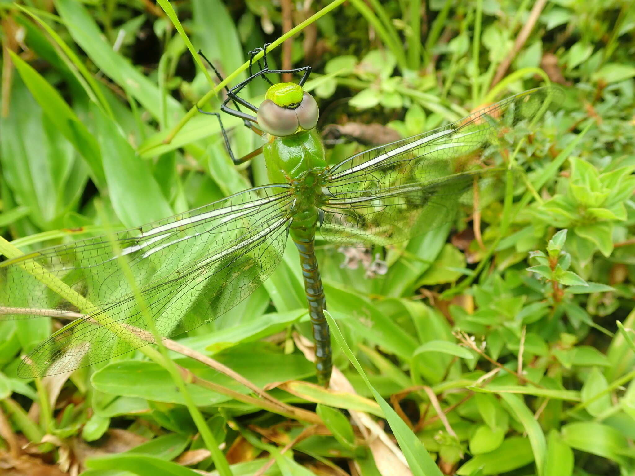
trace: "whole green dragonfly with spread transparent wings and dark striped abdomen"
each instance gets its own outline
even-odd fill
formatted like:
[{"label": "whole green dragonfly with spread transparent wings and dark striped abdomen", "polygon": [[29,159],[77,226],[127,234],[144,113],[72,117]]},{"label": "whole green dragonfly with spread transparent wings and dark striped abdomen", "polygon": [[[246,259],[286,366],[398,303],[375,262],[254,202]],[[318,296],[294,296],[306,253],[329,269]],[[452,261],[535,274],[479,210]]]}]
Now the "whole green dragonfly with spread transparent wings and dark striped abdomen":
[{"label": "whole green dragonfly with spread transparent wings and dark striped abdomen", "polygon": [[[487,194],[500,193],[510,175],[509,166],[494,159],[501,156],[496,151],[502,136],[523,123],[531,128],[558,105],[557,88],[531,89],[330,165],[316,128],[318,104],[303,88],[311,67],[269,69],[266,48],[250,52],[248,79],[226,88],[220,109],[262,136],[257,152],[264,154],[269,185],[0,262],[0,305],[15,309],[1,319],[69,312],[78,317],[23,358],[20,377],[67,372],[144,345],[114,332],[113,324],[148,331],[149,315],[156,331],[170,338],[212,321],[261,286],[290,237],[300,256],[317,380],[328,386],[331,346],[316,234],[338,246],[387,246],[455,220],[460,207],[476,209]],[[263,51],[264,65],[258,62],[253,72],[257,51]],[[266,76],[282,73],[302,78],[273,84]],[[258,77],[270,86],[256,107],[239,93]],[[220,114],[208,114],[218,117],[232,161],[255,155],[234,157]],[[124,276],[121,260],[134,283]],[[68,289],[80,296],[81,307]]]}]

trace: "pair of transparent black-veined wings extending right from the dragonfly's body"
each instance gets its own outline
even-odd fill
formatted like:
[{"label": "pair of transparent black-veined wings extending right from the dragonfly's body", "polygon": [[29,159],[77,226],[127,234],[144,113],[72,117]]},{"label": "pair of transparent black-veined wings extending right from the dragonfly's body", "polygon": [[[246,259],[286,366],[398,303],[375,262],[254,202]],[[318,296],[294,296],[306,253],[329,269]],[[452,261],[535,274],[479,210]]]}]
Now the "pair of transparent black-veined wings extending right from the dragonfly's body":
[{"label": "pair of transparent black-veined wings extending right from the dragonfly's body", "polygon": [[504,190],[506,174],[486,167],[486,159],[505,136],[531,130],[557,109],[561,95],[558,88],[531,89],[338,163],[325,184],[322,236],[349,246],[392,244],[453,220],[461,205],[483,206]]}]

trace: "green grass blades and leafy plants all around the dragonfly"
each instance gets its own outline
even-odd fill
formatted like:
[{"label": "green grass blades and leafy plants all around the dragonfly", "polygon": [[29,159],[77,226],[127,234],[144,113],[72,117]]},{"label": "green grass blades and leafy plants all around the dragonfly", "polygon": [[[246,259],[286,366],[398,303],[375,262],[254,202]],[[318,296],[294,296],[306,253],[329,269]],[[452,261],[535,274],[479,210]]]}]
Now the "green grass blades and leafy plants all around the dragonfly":
[{"label": "green grass blades and leafy plants all around the dragonfly", "polygon": [[[26,253],[266,183],[262,157],[234,167],[217,121],[192,109],[213,95],[190,52],[203,50],[235,84],[248,51],[308,18],[269,62],[314,67],[307,89],[333,162],[559,83],[563,107],[516,155],[528,180],[508,194],[511,214],[493,202],[385,250],[318,242],[344,373],[335,383],[352,384],[340,393],[309,384],[314,370],[295,334],[310,335],[295,249],[263,288],[178,340],[255,387],[287,382],[270,397],[178,354],[187,385],[177,367],[141,354],[23,381],[19,355],[59,325],[0,322],[0,467],[246,475],[273,463],[266,474],[401,475],[407,461],[417,475],[635,471],[635,10],[625,0],[351,0],[321,10],[328,5],[0,3],[2,235]],[[266,86],[251,83],[244,96],[258,102]],[[231,133],[241,155],[258,147],[243,129]]]}]

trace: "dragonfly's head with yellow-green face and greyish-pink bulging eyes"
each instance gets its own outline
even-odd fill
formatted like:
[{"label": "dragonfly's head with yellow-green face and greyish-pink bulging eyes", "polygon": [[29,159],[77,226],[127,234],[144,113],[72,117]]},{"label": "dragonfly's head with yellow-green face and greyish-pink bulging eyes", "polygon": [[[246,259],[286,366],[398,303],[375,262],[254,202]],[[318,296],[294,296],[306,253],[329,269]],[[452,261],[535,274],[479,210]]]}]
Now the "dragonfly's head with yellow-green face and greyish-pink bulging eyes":
[{"label": "dragonfly's head with yellow-green face and greyish-pink bulging eyes", "polygon": [[318,123],[318,103],[302,86],[274,84],[258,108],[258,126],[273,136],[290,136],[308,131]]}]

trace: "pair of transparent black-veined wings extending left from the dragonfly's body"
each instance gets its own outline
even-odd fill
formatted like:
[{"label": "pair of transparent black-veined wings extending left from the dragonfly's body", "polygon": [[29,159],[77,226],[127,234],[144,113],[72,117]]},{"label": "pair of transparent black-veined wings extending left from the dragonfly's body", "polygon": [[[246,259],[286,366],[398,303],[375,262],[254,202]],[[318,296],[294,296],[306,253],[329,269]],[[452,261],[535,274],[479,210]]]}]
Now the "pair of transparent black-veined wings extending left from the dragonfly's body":
[{"label": "pair of transparent black-veined wings extending left from the dragonfly's body", "polygon": [[[124,277],[122,258],[161,336],[184,333],[227,312],[279,263],[292,200],[284,185],[252,188],[113,237],[54,246],[0,263],[0,304],[20,308],[20,314],[5,319],[32,317],[25,315],[29,309],[37,316],[82,315],[39,345],[18,374],[56,374],[139,347],[109,330],[112,324],[149,330]],[[56,279],[90,304],[78,309],[44,284]]]}]

